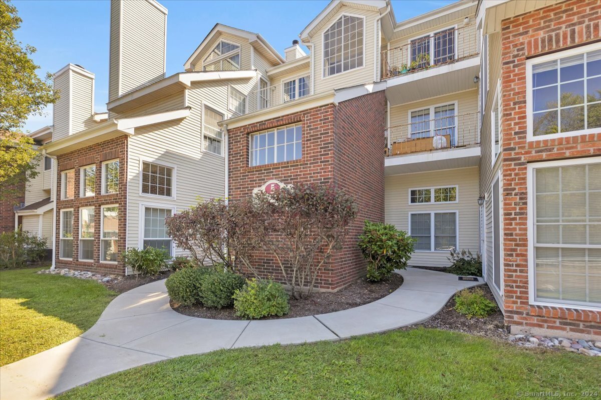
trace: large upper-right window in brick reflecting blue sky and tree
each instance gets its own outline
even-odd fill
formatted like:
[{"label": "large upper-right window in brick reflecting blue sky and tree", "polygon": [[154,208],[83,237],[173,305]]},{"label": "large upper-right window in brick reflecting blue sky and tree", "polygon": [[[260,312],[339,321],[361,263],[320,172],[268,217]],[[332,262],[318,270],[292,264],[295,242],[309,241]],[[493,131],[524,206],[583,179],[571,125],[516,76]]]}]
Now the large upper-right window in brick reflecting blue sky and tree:
[{"label": "large upper-right window in brick reflecting blue sky and tree", "polygon": [[601,127],[598,44],[526,60],[528,140],[597,132]]}]

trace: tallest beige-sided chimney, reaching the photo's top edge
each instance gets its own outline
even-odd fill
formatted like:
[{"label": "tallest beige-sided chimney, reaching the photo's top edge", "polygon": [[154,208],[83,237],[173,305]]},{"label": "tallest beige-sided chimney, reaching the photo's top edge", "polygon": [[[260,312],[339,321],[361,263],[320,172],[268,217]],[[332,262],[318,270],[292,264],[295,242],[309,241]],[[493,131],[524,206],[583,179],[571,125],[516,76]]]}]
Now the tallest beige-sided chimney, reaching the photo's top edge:
[{"label": "tallest beige-sided chimney, reaching the photo's top edge", "polygon": [[111,0],[109,101],[165,77],[167,9],[155,0]]}]

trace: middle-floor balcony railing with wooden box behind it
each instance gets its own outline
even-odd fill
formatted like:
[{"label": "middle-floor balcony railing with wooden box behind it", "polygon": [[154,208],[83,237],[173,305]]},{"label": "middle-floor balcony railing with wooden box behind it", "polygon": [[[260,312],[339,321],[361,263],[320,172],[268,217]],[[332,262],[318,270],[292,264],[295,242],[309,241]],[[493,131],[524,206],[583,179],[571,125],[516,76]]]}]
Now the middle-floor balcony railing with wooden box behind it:
[{"label": "middle-floor balcony railing with wooden box behind it", "polygon": [[424,151],[459,148],[480,143],[480,113],[444,116],[395,125],[386,130],[386,155],[403,155]]}]

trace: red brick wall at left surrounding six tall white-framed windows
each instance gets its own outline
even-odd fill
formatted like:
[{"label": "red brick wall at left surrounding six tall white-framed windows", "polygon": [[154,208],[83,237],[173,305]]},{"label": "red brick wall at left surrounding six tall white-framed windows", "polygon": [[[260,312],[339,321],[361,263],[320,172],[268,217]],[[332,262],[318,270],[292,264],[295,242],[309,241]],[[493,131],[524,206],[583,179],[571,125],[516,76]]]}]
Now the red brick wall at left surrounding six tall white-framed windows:
[{"label": "red brick wall at left surrounding six tall white-framed windows", "polygon": [[[76,151],[59,155],[58,177],[56,190],[58,199],[56,201],[56,267],[67,267],[72,269],[87,270],[99,273],[124,274],[125,267],[121,263],[100,262],[100,206],[118,204],[119,206],[119,236],[118,251],[125,249],[126,242],[126,205],[127,205],[127,137],[121,136],[106,140],[96,145],[78,149]],[[119,191],[113,194],[100,194],[102,185],[102,162],[108,160],[119,160]],[[95,195],[90,197],[79,197],[80,167],[96,165],[96,190]],[[61,197],[61,172],[75,169],[75,198],[60,200]],[[79,261],[79,208],[94,206],[94,261]],[[60,243],[60,218],[61,209],[73,208],[73,260],[59,259]]]}]

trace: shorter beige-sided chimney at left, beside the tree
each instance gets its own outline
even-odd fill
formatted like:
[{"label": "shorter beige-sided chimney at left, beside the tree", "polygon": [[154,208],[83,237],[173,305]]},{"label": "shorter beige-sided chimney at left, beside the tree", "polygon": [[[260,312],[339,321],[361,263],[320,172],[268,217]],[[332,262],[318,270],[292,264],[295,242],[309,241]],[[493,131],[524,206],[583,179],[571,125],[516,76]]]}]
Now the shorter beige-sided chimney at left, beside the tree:
[{"label": "shorter beige-sided chimney at left, beside the tree", "polygon": [[52,109],[52,140],[94,126],[94,74],[81,65],[67,64],[54,74],[59,99]]}]

